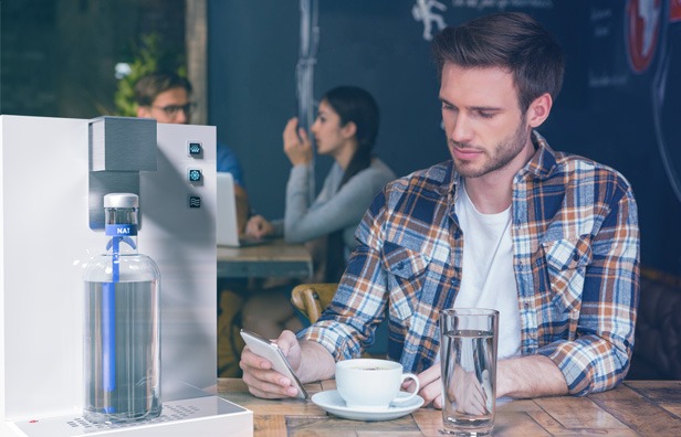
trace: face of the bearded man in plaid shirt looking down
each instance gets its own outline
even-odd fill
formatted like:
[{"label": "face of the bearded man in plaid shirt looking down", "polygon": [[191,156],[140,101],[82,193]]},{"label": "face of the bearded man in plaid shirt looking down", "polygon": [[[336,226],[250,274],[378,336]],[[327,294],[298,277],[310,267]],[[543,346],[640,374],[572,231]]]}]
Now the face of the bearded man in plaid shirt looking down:
[{"label": "face of the bearded man in plaid shirt looking down", "polygon": [[518,108],[511,73],[446,63],[440,100],[449,151],[461,175],[515,173],[525,164],[521,152],[533,148],[532,129]]}]

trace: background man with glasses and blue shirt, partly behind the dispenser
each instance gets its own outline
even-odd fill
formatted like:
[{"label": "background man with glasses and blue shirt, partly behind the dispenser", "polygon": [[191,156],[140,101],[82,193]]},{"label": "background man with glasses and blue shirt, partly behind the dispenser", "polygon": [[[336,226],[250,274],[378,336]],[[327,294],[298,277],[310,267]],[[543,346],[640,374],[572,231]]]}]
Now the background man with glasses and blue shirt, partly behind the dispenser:
[{"label": "background man with glasses and blue shirt, partly behind the dispenser", "polygon": [[[158,122],[188,125],[196,104],[191,102],[191,84],[175,73],[158,72],[142,77],[135,85],[137,117],[154,118]],[[218,171],[234,178],[237,221],[244,231],[249,217],[249,198],[243,183],[243,171],[237,154],[224,143],[217,143]]]}]

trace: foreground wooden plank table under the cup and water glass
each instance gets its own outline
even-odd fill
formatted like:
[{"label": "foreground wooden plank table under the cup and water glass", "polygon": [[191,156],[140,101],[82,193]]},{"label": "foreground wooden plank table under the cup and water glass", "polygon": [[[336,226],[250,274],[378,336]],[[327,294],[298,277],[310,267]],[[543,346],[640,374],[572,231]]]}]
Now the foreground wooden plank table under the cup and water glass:
[{"label": "foreground wooden plank table under the cup and water glass", "polygon": [[[335,381],[306,385],[310,394]],[[238,379],[218,380],[220,396],[253,412],[255,436],[439,436],[442,413],[425,407],[387,422],[327,415],[312,402],[265,401]],[[499,406],[494,436],[681,436],[681,381],[628,381],[587,397],[543,397]]]}]

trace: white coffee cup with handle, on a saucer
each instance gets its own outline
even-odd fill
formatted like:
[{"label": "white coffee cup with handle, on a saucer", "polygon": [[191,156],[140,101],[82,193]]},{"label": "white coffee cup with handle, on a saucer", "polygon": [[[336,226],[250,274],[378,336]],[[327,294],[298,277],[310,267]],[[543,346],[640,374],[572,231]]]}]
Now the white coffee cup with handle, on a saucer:
[{"label": "white coffee cup with handle, on a saucer", "polygon": [[[402,382],[409,379],[416,388],[408,396],[398,396]],[[402,365],[395,361],[354,359],[336,363],[336,390],[348,408],[384,409],[416,396],[419,380],[402,373]]]}]

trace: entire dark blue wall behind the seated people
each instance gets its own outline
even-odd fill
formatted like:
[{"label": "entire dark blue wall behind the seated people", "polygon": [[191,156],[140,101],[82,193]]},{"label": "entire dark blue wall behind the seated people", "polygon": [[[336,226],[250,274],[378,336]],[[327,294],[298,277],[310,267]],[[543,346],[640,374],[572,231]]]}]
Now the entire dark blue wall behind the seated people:
[{"label": "entire dark blue wall behind the seated people", "polygon": [[[533,14],[556,35],[566,82],[539,131],[554,149],[625,174],[639,204],[642,263],[680,274],[681,6],[658,3],[649,40],[636,0],[442,0],[446,10],[432,12],[455,25],[504,7]],[[315,97],[339,84],[370,90],[381,108],[376,151],[399,175],[448,159],[439,84],[415,4],[319,1]],[[298,21],[297,1],[209,0],[209,122],[240,156],[254,207],[270,217],[284,209],[290,164],[281,130],[296,113]],[[329,161],[317,164],[319,179]]]}]

